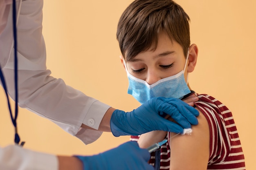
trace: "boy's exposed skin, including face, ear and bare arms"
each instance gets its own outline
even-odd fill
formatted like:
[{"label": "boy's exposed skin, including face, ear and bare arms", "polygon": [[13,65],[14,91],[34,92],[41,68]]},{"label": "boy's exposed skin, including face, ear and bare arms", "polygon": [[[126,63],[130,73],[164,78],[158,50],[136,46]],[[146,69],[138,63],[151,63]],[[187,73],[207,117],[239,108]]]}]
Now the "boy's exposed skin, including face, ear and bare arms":
[{"label": "boy's exposed skin, including face, ear and bare arms", "polygon": [[[189,47],[189,58],[184,71],[187,79],[196,65],[198,47],[192,44]],[[120,57],[124,65],[124,57]],[[175,75],[184,69],[186,58],[182,46],[176,41],[171,41],[165,33],[159,35],[155,51],[142,51],[131,61],[126,62],[127,69],[133,76],[143,79],[148,84],[153,84],[160,79]],[[189,84],[188,84],[189,86]],[[189,86],[190,88],[190,86]],[[191,90],[191,88],[190,88]],[[192,99],[194,96],[191,96]],[[188,100],[188,99],[186,99]],[[197,109],[197,108],[196,108]],[[197,109],[198,110],[198,109]],[[171,133],[169,142],[171,146],[170,170],[206,170],[209,159],[209,125],[206,118],[198,110],[198,125],[192,126],[191,135],[177,135]],[[139,146],[148,146],[162,141],[167,132],[152,131],[141,135]]]}]

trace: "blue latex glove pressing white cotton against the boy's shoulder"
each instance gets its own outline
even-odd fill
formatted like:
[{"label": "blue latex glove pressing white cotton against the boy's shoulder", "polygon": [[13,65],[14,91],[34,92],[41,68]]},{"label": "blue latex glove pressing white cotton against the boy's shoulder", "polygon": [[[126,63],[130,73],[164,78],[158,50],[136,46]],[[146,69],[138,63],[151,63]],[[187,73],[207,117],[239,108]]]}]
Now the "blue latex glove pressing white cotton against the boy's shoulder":
[{"label": "blue latex glove pressing white cotton against the boy's shoulder", "polygon": [[[179,125],[164,119],[166,114]],[[195,117],[198,115],[198,110],[180,99],[155,97],[131,112],[115,110],[110,119],[110,128],[116,137],[141,135],[152,130],[183,133],[184,128],[198,124]]]}]

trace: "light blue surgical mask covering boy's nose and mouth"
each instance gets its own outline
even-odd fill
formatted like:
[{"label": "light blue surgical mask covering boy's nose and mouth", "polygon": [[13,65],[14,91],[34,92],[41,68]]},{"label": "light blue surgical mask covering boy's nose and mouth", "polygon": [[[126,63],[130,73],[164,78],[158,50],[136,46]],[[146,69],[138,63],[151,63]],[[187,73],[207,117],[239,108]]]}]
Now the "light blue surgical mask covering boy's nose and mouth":
[{"label": "light blue surgical mask covering boy's nose and mouth", "polygon": [[184,78],[188,56],[189,54],[186,57],[184,69],[180,71],[180,73],[160,79],[151,85],[131,75],[127,70],[126,63],[124,63],[129,80],[128,94],[132,95],[141,104],[153,97],[173,97],[182,99],[184,95],[191,92]]}]

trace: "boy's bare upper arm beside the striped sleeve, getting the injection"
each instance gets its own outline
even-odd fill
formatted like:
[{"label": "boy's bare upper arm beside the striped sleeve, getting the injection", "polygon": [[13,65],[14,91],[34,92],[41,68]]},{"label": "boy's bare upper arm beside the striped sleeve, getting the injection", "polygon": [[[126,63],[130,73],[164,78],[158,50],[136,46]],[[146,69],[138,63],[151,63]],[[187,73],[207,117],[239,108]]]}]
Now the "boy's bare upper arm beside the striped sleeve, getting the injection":
[{"label": "boy's bare upper arm beside the striped sleeve, getting the injection", "polygon": [[[199,110],[200,112],[200,110]],[[209,125],[200,112],[198,125],[191,135],[177,135],[170,139],[170,170],[206,170],[209,160]],[[171,134],[171,137],[175,134]]]}]

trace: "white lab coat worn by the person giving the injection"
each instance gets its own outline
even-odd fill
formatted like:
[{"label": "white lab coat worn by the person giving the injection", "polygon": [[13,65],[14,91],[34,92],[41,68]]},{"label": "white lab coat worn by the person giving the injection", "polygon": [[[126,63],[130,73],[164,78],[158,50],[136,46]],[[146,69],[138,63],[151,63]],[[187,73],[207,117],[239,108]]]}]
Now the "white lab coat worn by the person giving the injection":
[{"label": "white lab coat worn by the person giving the injection", "polygon": [[[16,2],[19,106],[53,121],[85,144],[92,143],[102,132],[80,128],[81,124],[98,129],[110,106],[67,86],[62,79],[50,76],[51,71],[47,70],[45,64],[46,51],[42,35],[43,0]],[[13,98],[12,30],[10,10],[7,26],[0,35],[0,65],[9,95]],[[56,156],[25,150],[19,146],[0,148],[1,170],[56,170],[57,167]]]}]

